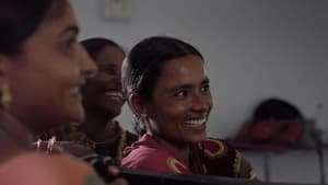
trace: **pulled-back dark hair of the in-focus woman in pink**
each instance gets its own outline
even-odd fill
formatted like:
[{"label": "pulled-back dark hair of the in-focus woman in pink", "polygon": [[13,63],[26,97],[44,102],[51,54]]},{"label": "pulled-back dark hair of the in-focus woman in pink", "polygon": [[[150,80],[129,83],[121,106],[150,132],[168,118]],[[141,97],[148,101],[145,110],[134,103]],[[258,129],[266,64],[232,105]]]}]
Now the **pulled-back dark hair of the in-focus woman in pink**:
[{"label": "pulled-back dark hair of the in-focus woman in pink", "polygon": [[168,60],[202,55],[190,44],[168,36],[153,36],[138,43],[122,67],[122,85],[126,94],[136,93],[141,100],[152,97],[154,83]]}]

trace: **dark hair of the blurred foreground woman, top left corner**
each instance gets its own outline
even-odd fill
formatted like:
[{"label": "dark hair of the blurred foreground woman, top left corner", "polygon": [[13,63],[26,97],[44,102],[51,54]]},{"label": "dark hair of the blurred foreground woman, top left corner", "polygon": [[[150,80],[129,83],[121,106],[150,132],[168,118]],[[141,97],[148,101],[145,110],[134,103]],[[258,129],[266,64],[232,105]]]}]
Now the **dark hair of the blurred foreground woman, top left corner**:
[{"label": "dark hair of the blurred foreground woman, top left corner", "polygon": [[1,0],[0,53],[16,55],[38,27],[54,0]]}]

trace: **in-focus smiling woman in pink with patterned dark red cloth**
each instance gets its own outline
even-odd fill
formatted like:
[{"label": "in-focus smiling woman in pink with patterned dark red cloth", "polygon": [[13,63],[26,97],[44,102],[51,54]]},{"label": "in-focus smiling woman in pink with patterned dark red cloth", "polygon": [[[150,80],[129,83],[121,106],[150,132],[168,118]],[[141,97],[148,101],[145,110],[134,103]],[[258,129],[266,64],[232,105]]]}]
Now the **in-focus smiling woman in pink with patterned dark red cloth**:
[{"label": "in-focus smiling woman in pink with patterned dark red cloth", "polygon": [[212,96],[203,58],[194,46],[165,36],[140,42],[124,63],[122,83],[145,130],[126,148],[122,166],[255,177],[238,151],[223,140],[207,138]]}]

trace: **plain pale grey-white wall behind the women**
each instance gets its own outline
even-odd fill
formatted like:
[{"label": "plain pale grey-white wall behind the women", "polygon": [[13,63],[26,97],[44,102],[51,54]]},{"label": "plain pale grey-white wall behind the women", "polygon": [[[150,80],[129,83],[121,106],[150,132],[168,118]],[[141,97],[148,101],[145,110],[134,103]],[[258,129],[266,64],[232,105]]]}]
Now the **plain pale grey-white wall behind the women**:
[{"label": "plain pale grey-white wall behind the women", "polygon": [[[104,36],[131,48],[159,34],[204,55],[214,108],[209,135],[233,136],[261,100],[278,96],[305,116],[324,104],[328,130],[328,1],[130,0],[130,21],[102,19],[102,0],[72,0],[81,38]],[[325,107],[326,106],[326,107]],[[131,128],[127,107],[119,120]]]}]

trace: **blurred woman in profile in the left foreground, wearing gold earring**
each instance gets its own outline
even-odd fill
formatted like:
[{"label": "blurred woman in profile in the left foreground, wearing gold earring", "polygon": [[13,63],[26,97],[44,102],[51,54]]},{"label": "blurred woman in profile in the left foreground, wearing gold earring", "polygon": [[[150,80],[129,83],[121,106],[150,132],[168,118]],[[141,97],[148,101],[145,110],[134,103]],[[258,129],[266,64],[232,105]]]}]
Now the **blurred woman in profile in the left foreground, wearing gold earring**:
[{"label": "blurred woman in profile in the left foreground, wearing gold earring", "polygon": [[1,0],[0,26],[0,184],[103,184],[85,163],[30,149],[33,135],[84,118],[79,90],[96,67],[69,2]]}]

